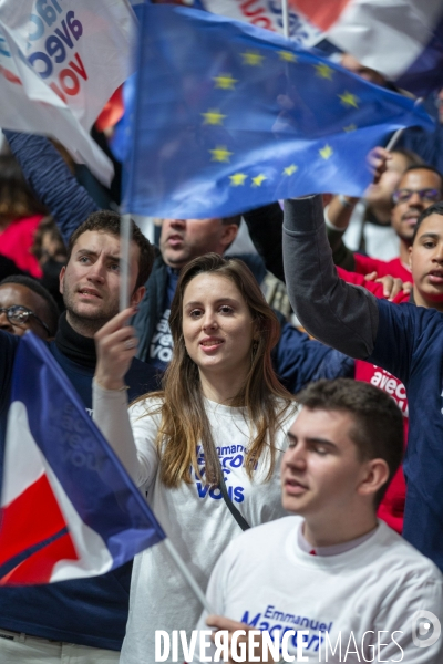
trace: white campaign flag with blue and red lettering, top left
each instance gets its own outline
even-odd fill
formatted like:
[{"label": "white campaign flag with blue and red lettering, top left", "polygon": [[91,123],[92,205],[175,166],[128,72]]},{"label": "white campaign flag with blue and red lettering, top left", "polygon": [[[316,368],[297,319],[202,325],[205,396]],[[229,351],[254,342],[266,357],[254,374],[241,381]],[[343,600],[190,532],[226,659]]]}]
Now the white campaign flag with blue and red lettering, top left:
[{"label": "white campaign flag with blue and red lettering, top left", "polygon": [[89,131],[132,73],[126,0],[0,0],[0,126],[56,138],[109,183]]}]

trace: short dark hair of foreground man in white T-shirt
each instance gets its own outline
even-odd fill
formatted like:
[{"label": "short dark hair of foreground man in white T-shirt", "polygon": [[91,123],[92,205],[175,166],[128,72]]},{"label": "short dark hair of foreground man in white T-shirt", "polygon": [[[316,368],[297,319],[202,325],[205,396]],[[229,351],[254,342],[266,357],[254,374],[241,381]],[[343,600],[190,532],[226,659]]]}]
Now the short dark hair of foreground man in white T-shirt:
[{"label": "short dark hair of foreground man in white T-shirt", "polygon": [[352,378],[311,383],[296,400],[311,411],[351,415],[354,426],[349,437],[360,460],[384,459],[389,467],[389,479],[375,494],[375,504],[380,505],[403,457],[403,416],[394,400],[370,383]]}]

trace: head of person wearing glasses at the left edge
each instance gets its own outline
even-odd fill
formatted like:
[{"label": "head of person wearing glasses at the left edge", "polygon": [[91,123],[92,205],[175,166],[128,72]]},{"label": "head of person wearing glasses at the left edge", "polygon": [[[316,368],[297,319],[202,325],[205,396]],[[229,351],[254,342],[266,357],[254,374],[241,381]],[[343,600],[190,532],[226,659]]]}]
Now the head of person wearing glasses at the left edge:
[{"label": "head of person wearing glasses at the left edge", "polygon": [[58,325],[55,301],[35,279],[18,274],[0,281],[0,330],[16,336],[31,330],[49,341]]}]

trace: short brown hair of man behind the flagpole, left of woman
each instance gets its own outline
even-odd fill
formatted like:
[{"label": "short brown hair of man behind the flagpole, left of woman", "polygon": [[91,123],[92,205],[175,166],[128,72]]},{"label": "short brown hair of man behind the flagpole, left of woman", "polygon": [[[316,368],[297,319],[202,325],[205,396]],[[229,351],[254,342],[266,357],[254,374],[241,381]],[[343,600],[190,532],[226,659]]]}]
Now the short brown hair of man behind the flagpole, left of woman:
[{"label": "short brown hair of man behind the flagpole, left of woman", "polygon": [[[86,230],[97,230],[99,232],[107,232],[110,235],[120,236],[120,215],[111,210],[100,210],[92,212],[85,221],[74,232],[68,242],[68,262],[71,259],[72,249],[81,235]],[[154,263],[154,248],[150,240],[145,238],[138,226],[131,219],[132,240],[140,249],[138,258],[138,276],[135,289],[143,286],[151,274]]]}]

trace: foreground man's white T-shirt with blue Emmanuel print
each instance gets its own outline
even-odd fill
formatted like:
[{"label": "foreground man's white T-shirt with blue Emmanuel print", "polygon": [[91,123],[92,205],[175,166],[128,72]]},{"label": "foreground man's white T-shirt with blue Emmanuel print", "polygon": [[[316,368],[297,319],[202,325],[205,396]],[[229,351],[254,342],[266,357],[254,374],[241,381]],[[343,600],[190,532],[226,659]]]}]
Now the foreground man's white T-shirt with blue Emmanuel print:
[{"label": "foreground man's white T-shirt with blue Emmanuel print", "polygon": [[[351,550],[311,556],[298,543],[302,521],[278,519],[229,544],[206,593],[215,613],[267,631],[272,640],[278,632],[280,644],[288,633],[296,662],[443,662],[443,635],[431,643],[443,622],[436,566],[383,521]],[[209,629],[205,618],[196,629]],[[193,662],[200,662],[198,652]],[[206,655],[212,653],[208,647]]]}]

